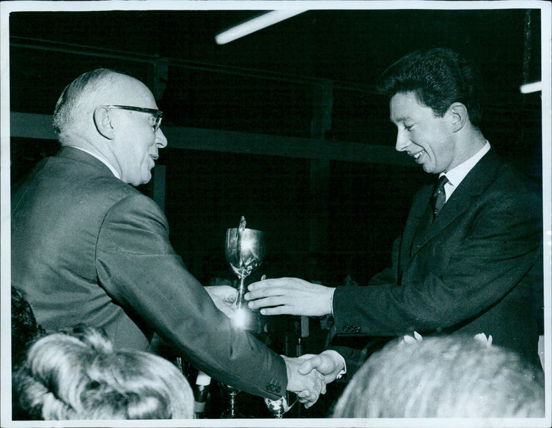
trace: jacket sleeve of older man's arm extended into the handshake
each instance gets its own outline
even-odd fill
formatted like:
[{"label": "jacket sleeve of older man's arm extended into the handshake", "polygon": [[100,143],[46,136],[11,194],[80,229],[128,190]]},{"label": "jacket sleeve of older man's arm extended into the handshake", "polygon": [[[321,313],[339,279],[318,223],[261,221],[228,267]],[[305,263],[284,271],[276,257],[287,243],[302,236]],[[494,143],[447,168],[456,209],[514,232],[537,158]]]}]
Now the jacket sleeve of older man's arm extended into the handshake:
[{"label": "jacket sleeve of older man's arm extended into the handshake", "polygon": [[129,196],[111,208],[99,232],[96,265],[112,299],[131,317],[139,314],[197,369],[249,394],[284,395],[284,360],[215,307],[170,245],[166,217],[150,198]]}]

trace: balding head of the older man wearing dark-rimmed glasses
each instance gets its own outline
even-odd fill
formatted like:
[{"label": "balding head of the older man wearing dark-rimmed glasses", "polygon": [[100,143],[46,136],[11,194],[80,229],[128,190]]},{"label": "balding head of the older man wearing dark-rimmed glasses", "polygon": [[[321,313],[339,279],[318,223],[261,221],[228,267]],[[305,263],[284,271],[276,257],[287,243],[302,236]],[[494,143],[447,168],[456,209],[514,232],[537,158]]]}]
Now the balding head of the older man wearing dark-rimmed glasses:
[{"label": "balding head of the older man wearing dark-rimmed glasses", "polygon": [[158,150],[167,145],[160,117],[144,83],[99,68],[81,74],[63,90],[53,125],[61,145],[86,150],[125,183],[141,185],[150,181]]}]

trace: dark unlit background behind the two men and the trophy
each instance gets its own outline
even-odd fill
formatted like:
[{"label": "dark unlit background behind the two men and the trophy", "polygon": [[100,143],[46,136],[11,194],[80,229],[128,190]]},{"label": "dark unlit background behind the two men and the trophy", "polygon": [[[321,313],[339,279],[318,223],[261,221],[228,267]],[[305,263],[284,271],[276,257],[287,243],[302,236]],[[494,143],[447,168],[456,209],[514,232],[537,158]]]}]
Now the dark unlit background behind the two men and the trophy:
[{"label": "dark unlit background behind the two men and the trophy", "polygon": [[[375,94],[377,77],[412,50],[449,47],[476,63],[484,77],[484,136],[542,181],[540,93],[519,90],[541,79],[540,10],[310,10],[227,45],[215,43],[217,32],[260,12],[13,12],[10,110],[50,115],[63,88],[97,67],[128,72],[150,85],[153,64],[163,59],[168,73],[157,97],[163,130],[311,139],[316,89],[330,82],[325,142],[337,151],[345,143],[393,150],[396,130],[387,101]],[[352,272],[363,285],[387,265],[415,191],[435,179],[413,162],[330,157],[320,195],[311,179],[314,155],[236,153],[224,141],[215,150],[181,148],[185,144],[169,139],[160,152],[164,208],[173,246],[205,285],[213,272],[228,274],[225,230],[237,227],[242,215],[248,227],[266,234],[268,253],[257,275],[342,285]],[[51,139],[12,137],[12,183],[58,148]],[[151,196],[152,185],[140,189]],[[319,207],[321,200],[326,205]],[[313,251],[316,216],[326,220],[327,245]],[[306,351],[319,351],[313,340]],[[319,404],[311,415],[324,416],[327,408]]]}]

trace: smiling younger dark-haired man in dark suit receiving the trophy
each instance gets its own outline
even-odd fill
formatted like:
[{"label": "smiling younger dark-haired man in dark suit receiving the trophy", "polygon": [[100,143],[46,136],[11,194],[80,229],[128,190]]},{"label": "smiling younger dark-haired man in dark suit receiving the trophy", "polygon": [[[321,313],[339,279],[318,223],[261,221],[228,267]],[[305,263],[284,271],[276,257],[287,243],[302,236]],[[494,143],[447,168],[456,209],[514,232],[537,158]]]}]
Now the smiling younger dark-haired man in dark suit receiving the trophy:
[{"label": "smiling younger dark-haired man in dark suit receiving the trophy", "polygon": [[[396,150],[437,174],[440,185],[417,192],[391,267],[368,287],[269,279],[249,286],[250,307],[264,315],[331,314],[337,335],[364,341],[484,333],[540,368],[542,201],[483,136],[475,68],[453,50],[413,52],[384,72],[380,88],[397,126]],[[337,350],[349,374],[362,363],[358,351]],[[313,367],[331,381],[344,361],[324,351],[300,369]]]}]

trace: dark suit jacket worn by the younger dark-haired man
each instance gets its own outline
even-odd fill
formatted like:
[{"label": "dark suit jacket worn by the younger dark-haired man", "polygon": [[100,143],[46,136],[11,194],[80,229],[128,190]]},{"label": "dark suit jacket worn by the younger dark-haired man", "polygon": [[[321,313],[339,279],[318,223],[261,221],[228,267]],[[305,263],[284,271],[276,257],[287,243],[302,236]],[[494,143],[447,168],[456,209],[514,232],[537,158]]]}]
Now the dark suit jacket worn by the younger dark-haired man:
[{"label": "dark suit jacket worn by the younger dark-haired man", "polygon": [[[484,333],[536,366],[542,309],[542,199],[491,150],[431,221],[432,187],[413,200],[392,267],[366,287],[337,287],[342,336]],[[362,341],[359,340],[359,341]],[[364,340],[366,343],[366,340]],[[354,371],[359,354],[340,349]]]}]

